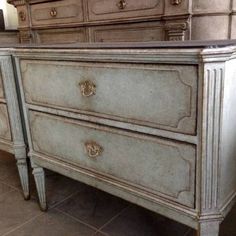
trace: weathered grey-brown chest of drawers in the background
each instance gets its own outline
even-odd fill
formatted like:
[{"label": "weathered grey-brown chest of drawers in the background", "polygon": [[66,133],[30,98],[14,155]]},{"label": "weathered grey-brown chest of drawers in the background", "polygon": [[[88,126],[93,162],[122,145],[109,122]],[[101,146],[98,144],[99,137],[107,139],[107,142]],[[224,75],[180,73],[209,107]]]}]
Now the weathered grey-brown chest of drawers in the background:
[{"label": "weathered grey-brown chest of drawers in the background", "polygon": [[[235,0],[8,0],[23,43],[233,39]],[[232,2],[232,4],[231,4]]]}]

